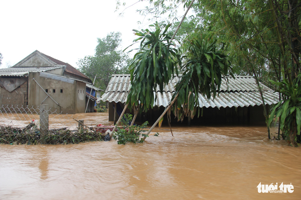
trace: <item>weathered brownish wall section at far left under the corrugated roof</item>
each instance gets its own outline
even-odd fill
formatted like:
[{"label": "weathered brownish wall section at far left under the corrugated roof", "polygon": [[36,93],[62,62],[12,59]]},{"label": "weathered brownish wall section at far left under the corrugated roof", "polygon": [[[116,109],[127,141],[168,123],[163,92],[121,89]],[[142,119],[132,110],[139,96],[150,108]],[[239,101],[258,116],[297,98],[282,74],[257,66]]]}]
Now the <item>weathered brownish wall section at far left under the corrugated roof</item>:
[{"label": "weathered brownish wall section at far left under the corrugated roof", "polygon": [[28,78],[27,77],[13,77],[13,78],[1,78],[1,81],[14,82],[16,79],[23,79],[25,82],[18,86],[13,91],[9,92],[3,87],[0,87],[0,106],[4,107],[26,107],[28,103]]}]

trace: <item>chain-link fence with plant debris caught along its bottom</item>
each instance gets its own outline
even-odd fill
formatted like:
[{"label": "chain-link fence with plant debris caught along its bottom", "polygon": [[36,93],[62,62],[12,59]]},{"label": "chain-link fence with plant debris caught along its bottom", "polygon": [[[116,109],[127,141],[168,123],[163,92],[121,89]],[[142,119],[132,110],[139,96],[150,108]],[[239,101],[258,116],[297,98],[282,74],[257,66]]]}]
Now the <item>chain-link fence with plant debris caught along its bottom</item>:
[{"label": "chain-link fence with plant debris caught along its bottom", "polygon": [[73,115],[52,112],[47,105],[0,107],[0,144],[75,144],[100,141],[106,126],[86,126]]}]

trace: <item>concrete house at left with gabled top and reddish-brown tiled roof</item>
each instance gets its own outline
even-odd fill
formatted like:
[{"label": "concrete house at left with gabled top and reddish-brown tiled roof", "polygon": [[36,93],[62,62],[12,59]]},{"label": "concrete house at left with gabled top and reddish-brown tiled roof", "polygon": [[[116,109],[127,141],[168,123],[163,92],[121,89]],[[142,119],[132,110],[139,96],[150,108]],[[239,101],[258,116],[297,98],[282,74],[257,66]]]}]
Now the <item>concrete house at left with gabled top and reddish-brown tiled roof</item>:
[{"label": "concrete house at left with gabled top and reddish-brown tiled roof", "polygon": [[92,81],[70,64],[39,51],[0,69],[0,104],[3,108],[37,108],[48,104],[51,111],[85,112],[86,84]]}]

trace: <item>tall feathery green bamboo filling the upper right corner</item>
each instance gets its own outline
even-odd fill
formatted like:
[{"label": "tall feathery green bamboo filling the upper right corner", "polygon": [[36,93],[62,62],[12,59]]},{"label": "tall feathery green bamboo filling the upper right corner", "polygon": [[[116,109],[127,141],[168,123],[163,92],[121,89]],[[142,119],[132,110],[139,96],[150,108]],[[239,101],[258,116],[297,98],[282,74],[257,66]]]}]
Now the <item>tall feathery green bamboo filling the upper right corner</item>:
[{"label": "tall feathery green bamboo filling the upper right corner", "polygon": [[[156,17],[169,13],[172,19],[179,5],[186,9],[191,1],[149,2],[151,5],[139,10],[140,13],[151,13]],[[301,71],[299,0],[199,0],[194,2],[193,10],[195,14],[186,23],[190,26],[184,27],[190,31],[182,31],[183,35],[190,40],[200,36],[203,39],[217,38],[217,43],[227,47],[234,74],[253,75],[257,83],[261,81],[272,87],[279,85],[270,84],[269,79],[276,82],[287,79],[289,85],[301,85],[299,79],[294,81]],[[291,98],[290,93],[283,92],[281,88],[279,91],[283,100]],[[263,98],[262,101],[264,104]],[[277,107],[279,110],[282,108]],[[265,115],[268,117],[267,111]],[[280,123],[284,123],[284,120]],[[281,127],[297,126],[281,124]],[[300,134],[299,130],[296,131],[296,134]],[[294,137],[287,138],[294,143]]]}]

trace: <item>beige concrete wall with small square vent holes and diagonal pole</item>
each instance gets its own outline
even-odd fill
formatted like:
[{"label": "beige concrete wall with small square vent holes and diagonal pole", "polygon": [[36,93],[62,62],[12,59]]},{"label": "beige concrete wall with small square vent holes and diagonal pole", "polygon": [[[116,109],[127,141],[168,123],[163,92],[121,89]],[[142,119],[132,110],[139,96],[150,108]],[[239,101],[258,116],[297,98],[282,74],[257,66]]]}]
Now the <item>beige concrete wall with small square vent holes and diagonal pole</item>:
[{"label": "beige concrete wall with small square vent holes and diagonal pole", "polygon": [[[41,87],[33,80],[33,78],[41,85]],[[85,91],[86,84],[82,82],[73,81],[73,83],[53,80],[51,78],[41,77],[38,72],[29,73],[28,84],[28,105],[29,107],[43,104],[48,104],[51,111],[63,114],[75,114],[84,112],[85,98],[83,92]],[[53,100],[47,96],[53,98]],[[55,90],[55,91],[54,91]],[[61,91],[62,90],[62,91]],[[81,95],[77,90],[82,90]],[[83,98],[81,98],[83,96]],[[46,98],[47,97],[47,98]],[[59,105],[57,105],[57,102]]]}]

